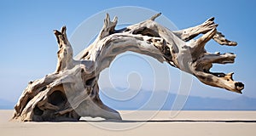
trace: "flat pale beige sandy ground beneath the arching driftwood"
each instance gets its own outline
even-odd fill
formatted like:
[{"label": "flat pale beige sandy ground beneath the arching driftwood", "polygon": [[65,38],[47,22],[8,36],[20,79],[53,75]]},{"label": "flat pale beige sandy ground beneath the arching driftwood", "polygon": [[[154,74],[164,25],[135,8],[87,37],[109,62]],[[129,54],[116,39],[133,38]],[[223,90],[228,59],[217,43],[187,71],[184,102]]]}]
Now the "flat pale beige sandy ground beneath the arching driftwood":
[{"label": "flat pale beige sandy ground beneath the arching driftwood", "polygon": [[[0,111],[0,135],[256,135],[256,111],[120,111],[123,122],[9,122]],[[148,122],[145,122],[148,121]]]}]

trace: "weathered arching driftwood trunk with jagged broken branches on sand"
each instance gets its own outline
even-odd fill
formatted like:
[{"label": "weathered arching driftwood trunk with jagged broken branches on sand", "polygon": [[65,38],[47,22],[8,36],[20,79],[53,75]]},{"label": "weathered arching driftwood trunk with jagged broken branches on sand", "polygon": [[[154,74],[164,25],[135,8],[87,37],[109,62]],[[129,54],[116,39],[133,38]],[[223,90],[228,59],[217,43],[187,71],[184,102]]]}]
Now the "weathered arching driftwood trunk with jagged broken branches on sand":
[{"label": "weathered arching driftwood trunk with jagged broken branches on sand", "polygon": [[[66,26],[54,31],[59,45],[56,71],[29,82],[15,105],[13,120],[17,121],[79,121],[81,116],[100,116],[121,120],[118,111],[102,103],[97,79],[113,59],[126,51],[145,54],[193,74],[201,82],[240,93],[241,82],[233,80],[233,73],[211,72],[212,64],[234,63],[236,54],[208,53],[206,43],[213,39],[221,45],[236,46],[222,33],[211,18],[199,26],[180,31],[170,31],[154,20],[149,20],[115,30],[107,14],[104,26],[95,42],[84,49],[79,60],[73,59],[73,48],[68,42]],[[203,34],[198,39],[199,34]],[[103,90],[104,91],[104,90]]]}]

